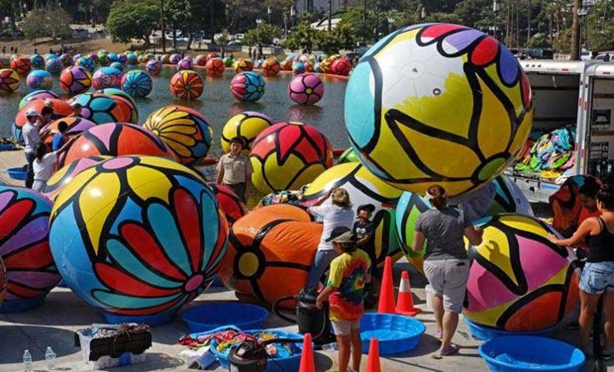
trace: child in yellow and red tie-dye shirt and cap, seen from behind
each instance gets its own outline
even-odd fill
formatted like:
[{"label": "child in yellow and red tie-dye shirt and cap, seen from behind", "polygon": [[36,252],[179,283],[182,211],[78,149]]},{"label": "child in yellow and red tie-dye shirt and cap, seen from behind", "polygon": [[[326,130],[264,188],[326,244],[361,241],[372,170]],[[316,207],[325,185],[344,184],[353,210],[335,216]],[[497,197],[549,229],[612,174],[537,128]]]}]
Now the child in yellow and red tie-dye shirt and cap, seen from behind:
[{"label": "child in yellow and red tie-dye shirt and cap, seen from behind", "polygon": [[[365,313],[362,304],[365,284],[371,281],[369,255],[356,246],[356,236],[346,227],[335,228],[327,241],[339,254],[330,263],[327,286],[317,297],[316,306],[328,300],[330,321],[339,346],[339,371],[358,371],[362,358],[360,318]],[[353,370],[348,367],[350,355]]]}]

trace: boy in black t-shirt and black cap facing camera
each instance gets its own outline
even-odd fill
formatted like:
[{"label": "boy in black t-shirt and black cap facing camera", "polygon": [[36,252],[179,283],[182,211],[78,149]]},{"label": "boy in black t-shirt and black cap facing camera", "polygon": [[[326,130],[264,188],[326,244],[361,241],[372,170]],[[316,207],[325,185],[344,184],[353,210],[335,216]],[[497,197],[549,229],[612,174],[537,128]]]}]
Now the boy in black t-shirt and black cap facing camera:
[{"label": "boy in black t-shirt and black cap facing camera", "polygon": [[[369,293],[373,300],[378,296],[379,279],[381,277],[381,268],[377,267],[377,259],[375,257],[375,244],[373,243],[373,234],[375,234],[375,225],[371,222],[371,214],[375,211],[373,204],[362,204],[356,211],[358,220],[354,222],[352,233],[356,235],[358,247],[369,255],[371,258],[371,286]],[[365,306],[368,303],[365,300]]]}]

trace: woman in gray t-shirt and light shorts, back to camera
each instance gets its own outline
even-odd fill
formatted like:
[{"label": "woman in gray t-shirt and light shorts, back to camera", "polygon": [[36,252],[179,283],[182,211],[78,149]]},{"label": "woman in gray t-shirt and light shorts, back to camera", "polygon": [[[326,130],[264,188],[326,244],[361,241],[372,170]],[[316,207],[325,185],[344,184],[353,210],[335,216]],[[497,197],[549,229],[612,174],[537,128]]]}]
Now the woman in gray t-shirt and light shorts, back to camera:
[{"label": "woman in gray t-shirt and light shorts, back to camera", "polygon": [[426,198],[434,209],[418,217],[411,249],[422,250],[426,241],[424,275],[435,291],[433,312],[441,347],[434,358],[454,354],[458,347],[450,341],[459,321],[459,313],[469,279],[469,260],[464,236],[474,246],[482,242],[482,230],[474,228],[465,212],[448,206],[446,190],[440,185],[429,187]]}]

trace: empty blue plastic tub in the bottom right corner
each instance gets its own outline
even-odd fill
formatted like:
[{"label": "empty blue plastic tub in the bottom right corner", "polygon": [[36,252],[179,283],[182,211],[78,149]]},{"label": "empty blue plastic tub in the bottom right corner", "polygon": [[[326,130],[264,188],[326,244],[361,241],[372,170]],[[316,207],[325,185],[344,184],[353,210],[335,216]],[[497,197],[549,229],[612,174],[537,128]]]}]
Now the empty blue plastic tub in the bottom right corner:
[{"label": "empty blue plastic tub in the bottom right corner", "polygon": [[539,336],[500,336],[478,349],[494,372],[580,370],[585,356],[576,347]]}]

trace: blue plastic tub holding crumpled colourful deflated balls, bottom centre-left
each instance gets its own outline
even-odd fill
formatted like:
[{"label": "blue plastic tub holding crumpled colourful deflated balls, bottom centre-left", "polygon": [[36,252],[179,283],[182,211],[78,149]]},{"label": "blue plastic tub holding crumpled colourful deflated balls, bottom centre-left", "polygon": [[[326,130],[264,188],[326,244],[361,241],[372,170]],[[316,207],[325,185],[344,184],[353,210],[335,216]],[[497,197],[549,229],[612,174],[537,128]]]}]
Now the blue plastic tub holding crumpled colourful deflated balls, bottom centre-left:
[{"label": "blue plastic tub holding crumpled colourful deflated balls, bottom centre-left", "polygon": [[[284,332],[280,330],[249,330],[246,333],[260,333],[262,331],[273,333],[277,338],[290,338],[296,339],[295,343],[299,349],[303,349],[303,335],[300,333]],[[227,370],[230,370],[230,362],[228,362],[228,354],[230,353],[230,347],[224,352],[217,351],[217,342],[215,339],[211,341],[211,352],[216,355],[220,362],[220,365]],[[268,358],[266,363],[266,372],[286,372],[286,371],[298,371],[301,363],[301,354],[289,355],[287,349],[278,347],[278,355],[276,358]]]}]

